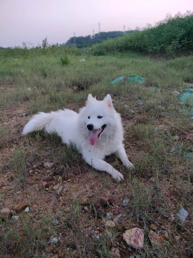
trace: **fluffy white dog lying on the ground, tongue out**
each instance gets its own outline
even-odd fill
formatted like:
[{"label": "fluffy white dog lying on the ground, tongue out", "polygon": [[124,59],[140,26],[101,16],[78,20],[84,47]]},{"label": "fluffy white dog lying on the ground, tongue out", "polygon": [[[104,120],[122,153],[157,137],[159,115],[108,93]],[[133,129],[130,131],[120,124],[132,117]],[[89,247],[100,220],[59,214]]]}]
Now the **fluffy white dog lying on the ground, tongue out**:
[{"label": "fluffy white dog lying on the ground, tongue out", "polygon": [[25,125],[22,134],[43,129],[48,133],[57,132],[67,145],[75,144],[90,166],[106,171],[119,181],[124,179],[123,175],[104,161],[105,156],[114,153],[124,166],[134,168],[123,146],[121,117],[113,108],[109,94],[103,101],[89,94],[86,106],[81,108],[79,114],[69,109],[40,112]]}]

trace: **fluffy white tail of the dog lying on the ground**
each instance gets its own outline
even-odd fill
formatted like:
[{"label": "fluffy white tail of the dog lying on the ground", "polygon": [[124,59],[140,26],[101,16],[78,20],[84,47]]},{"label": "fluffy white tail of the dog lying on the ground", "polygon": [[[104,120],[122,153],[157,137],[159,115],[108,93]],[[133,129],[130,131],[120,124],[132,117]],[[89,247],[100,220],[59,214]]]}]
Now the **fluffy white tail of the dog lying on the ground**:
[{"label": "fluffy white tail of the dog lying on the ground", "polygon": [[44,113],[34,115],[30,121],[25,125],[22,135],[32,133],[35,131],[43,130],[46,124],[50,123],[53,119],[54,112]]}]

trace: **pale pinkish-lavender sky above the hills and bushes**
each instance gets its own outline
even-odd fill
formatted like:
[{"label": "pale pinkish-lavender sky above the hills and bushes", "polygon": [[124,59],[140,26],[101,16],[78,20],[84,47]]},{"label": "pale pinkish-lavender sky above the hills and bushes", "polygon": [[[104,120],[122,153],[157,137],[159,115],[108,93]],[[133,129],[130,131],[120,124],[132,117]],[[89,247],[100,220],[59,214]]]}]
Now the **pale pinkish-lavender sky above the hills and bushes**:
[{"label": "pale pinkish-lavender sky above the hills and bushes", "polygon": [[193,10],[193,0],[0,0],[0,46],[63,43],[69,37],[123,31]]}]

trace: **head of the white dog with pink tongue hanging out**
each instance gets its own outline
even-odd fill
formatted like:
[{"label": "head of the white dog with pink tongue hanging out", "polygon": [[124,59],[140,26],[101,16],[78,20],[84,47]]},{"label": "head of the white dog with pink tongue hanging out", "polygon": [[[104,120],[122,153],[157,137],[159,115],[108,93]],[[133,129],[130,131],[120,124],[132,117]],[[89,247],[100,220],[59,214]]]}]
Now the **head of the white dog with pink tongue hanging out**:
[{"label": "head of the white dog with pink tongue hanging out", "polygon": [[102,101],[96,100],[91,94],[88,95],[87,104],[80,112],[79,121],[91,145],[113,134],[116,127],[115,114],[109,94]]}]

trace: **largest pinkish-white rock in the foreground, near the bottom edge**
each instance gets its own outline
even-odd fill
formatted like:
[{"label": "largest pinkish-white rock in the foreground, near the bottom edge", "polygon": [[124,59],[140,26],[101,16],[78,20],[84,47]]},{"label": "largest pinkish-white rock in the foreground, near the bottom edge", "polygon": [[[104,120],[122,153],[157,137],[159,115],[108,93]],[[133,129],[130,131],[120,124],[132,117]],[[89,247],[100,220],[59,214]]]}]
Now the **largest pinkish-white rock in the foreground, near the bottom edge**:
[{"label": "largest pinkish-white rock in the foreground, near the bottom edge", "polygon": [[143,249],[144,247],[144,231],[138,227],[126,230],[123,239],[135,249]]}]

